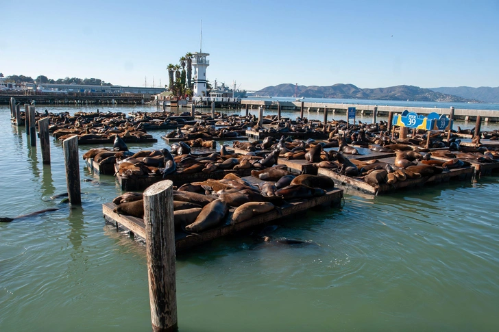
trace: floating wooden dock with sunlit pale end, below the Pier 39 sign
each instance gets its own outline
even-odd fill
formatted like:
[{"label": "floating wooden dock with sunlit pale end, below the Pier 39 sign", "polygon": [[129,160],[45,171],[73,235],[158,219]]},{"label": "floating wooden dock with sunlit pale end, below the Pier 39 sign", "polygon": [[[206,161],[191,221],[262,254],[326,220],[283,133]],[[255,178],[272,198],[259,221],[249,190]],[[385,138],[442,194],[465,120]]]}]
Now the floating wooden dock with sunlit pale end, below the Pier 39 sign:
[{"label": "floating wooden dock with sunlit pale end, below the Pier 39 sign", "polygon": [[[391,162],[393,162],[393,158]],[[387,159],[380,159],[380,162],[390,162]],[[433,175],[431,177],[420,177],[419,179],[406,179],[405,181],[397,181],[393,184],[380,184],[376,187],[369,185],[369,183],[363,181],[362,179],[356,177],[347,177],[346,175],[341,175],[334,172],[334,170],[319,168],[317,173],[319,175],[325,175],[330,177],[336,186],[345,189],[354,189],[355,191],[365,192],[367,194],[386,194],[388,192],[394,192],[402,188],[412,188],[412,187],[422,187],[426,183],[439,183],[442,181],[449,181],[450,179],[471,179],[474,175],[474,167],[468,166],[465,168],[455,168],[448,171],[443,171],[440,174]]]}]

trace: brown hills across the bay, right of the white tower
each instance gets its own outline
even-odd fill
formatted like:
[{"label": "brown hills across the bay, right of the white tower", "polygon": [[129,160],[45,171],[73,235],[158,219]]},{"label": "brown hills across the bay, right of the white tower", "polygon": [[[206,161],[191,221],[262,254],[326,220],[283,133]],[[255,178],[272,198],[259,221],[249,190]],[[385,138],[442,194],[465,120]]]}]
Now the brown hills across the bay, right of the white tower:
[{"label": "brown hills across the bay, right of the white tower", "polygon": [[[260,97],[293,97],[294,84],[279,84],[267,86],[254,93]],[[336,98],[336,99],[380,99],[393,101],[448,101],[448,102],[479,102],[422,89],[417,86],[390,86],[388,88],[362,89],[353,84],[334,84],[333,86],[298,86],[298,96],[305,98]]]}]

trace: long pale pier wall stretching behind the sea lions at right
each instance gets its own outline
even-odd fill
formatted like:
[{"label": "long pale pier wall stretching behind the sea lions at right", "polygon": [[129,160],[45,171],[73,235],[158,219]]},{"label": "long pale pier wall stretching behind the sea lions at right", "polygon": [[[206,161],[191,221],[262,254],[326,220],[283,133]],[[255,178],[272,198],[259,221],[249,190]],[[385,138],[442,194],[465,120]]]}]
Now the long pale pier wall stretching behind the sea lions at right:
[{"label": "long pale pier wall stretching behind the sea lions at right", "polygon": [[[376,115],[376,116],[388,116],[390,112],[402,113],[404,110],[409,112],[416,112],[417,114],[450,114],[451,110],[449,107],[441,108],[431,108],[431,107],[407,107],[407,106],[388,106],[388,105],[361,105],[361,104],[346,104],[346,103],[313,103],[304,101],[260,101],[243,99],[241,101],[241,107],[258,110],[258,107],[263,107],[264,110],[304,110],[304,116],[306,112],[328,112],[332,113],[334,117],[335,114],[347,114],[348,107],[355,107],[356,114],[360,115]],[[376,111],[376,112],[375,112]],[[453,118],[454,120],[465,120],[474,121],[477,116],[481,116],[485,119],[485,123],[489,122],[499,122],[499,112],[497,110],[472,110],[472,109],[454,109]]]}]

